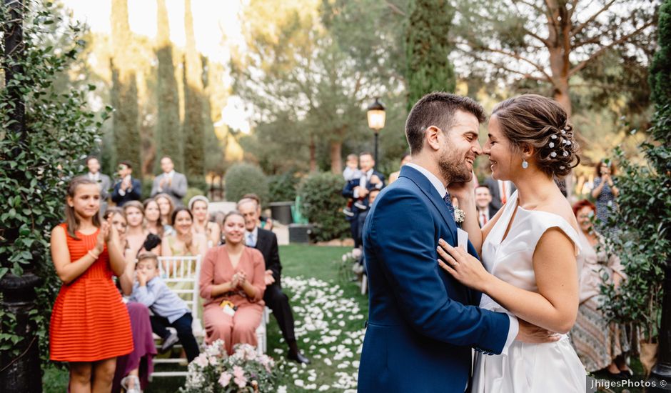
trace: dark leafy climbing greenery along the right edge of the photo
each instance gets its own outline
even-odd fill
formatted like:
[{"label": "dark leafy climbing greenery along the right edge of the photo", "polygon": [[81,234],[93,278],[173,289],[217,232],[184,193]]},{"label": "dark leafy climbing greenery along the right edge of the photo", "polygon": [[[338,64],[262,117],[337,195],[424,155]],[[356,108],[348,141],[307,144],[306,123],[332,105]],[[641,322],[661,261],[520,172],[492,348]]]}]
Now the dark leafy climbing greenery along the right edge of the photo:
[{"label": "dark leafy climbing greenery along the right edge of the photo", "polygon": [[640,149],[647,165],[638,166],[617,149],[622,175],[617,178],[619,209],[610,217],[620,236],[609,239],[622,258],[627,280],[615,292],[604,286],[610,298],[607,312],[620,321],[643,327],[645,339],[655,341],[660,334],[662,284],[671,247],[671,1],[660,7],[660,46],[650,69],[652,99],[656,104],[650,138]]}]

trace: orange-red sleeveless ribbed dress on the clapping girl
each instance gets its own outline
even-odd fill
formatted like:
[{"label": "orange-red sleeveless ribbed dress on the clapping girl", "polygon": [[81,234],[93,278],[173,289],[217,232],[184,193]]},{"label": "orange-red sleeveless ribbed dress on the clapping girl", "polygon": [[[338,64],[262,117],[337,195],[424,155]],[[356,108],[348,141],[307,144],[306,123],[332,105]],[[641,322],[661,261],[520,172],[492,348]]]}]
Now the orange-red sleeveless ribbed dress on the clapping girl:
[{"label": "orange-red sleeveless ribbed dress on the clapping girl", "polygon": [[[70,260],[76,261],[96,247],[98,231],[76,240],[66,232]],[[51,360],[96,362],[133,351],[128,309],[112,282],[107,247],[89,269],[69,285],[63,284],[51,312]]]}]

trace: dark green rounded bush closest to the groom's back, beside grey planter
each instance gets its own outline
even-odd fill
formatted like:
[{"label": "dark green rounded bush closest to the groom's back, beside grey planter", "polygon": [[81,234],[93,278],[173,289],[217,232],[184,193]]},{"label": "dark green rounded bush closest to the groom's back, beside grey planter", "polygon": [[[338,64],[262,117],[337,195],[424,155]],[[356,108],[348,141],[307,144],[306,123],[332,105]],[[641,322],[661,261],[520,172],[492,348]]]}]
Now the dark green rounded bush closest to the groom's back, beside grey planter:
[{"label": "dark green rounded bush closest to the groom's back, beside grey planter", "polygon": [[344,239],[349,234],[349,223],[340,212],[345,206],[342,194],[345,181],[340,174],[316,172],[298,186],[301,213],[314,224],[314,237],[318,242]]}]

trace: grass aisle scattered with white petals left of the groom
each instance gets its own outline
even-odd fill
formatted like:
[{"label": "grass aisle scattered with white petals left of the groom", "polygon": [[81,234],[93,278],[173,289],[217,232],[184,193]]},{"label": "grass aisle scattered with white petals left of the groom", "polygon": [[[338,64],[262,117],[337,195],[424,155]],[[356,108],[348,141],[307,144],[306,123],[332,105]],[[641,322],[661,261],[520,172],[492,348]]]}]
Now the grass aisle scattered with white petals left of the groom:
[{"label": "grass aisle scattered with white petals left of the groom", "polygon": [[[282,286],[296,318],[298,346],[311,359],[303,367],[288,362],[279,392],[356,389],[355,376],[368,316],[368,297],[340,271],[347,247],[286,246],[280,248]],[[346,269],[349,269],[350,265]],[[286,344],[271,317],[268,354],[286,355]],[[284,367],[284,368],[282,368]]]}]

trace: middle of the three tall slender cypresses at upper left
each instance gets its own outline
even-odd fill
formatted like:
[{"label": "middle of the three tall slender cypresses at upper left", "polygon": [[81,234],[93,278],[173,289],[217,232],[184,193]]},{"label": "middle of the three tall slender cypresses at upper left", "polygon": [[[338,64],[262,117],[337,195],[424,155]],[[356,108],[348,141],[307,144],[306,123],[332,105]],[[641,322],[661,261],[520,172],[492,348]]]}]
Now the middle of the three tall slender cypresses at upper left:
[{"label": "middle of the three tall slender cypresses at upper left", "polygon": [[[156,157],[170,156],[177,171],[183,171],[182,133],[179,122],[179,96],[173,45],[170,41],[170,24],[166,0],[157,0],[158,34],[156,56],[158,57],[158,122],[156,124]],[[158,159],[156,165],[158,166]]]}]

